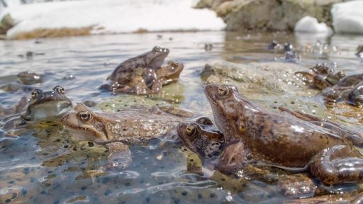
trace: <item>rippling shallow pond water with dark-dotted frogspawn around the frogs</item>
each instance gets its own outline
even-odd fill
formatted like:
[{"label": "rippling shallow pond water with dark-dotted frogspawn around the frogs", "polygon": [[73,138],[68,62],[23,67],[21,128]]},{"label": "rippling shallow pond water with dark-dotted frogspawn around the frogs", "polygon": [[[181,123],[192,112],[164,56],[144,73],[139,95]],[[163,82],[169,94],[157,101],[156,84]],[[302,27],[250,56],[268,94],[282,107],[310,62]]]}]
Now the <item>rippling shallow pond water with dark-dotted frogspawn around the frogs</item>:
[{"label": "rippling shallow pond water with dark-dotted frogspawn around the frogs", "polygon": [[[200,77],[204,65],[279,61],[281,52],[264,48],[272,40],[295,45],[301,55],[296,63],[307,68],[327,62],[347,74],[362,72],[362,62],[354,53],[363,37],[354,35],[146,33],[40,39],[40,43],[0,41],[0,103],[9,108],[34,87],[49,90],[61,85],[74,103],[91,100],[108,111],[133,103],[167,103],[196,115],[211,115]],[[318,46],[308,49],[318,40],[326,43],[328,50]],[[213,49],[204,50],[205,43],[211,43]],[[151,98],[112,96],[98,89],[120,62],[155,45],[169,48],[167,60],[185,64],[179,81],[166,86],[164,94]],[[26,57],[28,51],[33,57]],[[43,82],[18,91],[4,90],[18,72],[26,70],[45,74]],[[259,102],[268,106],[276,98],[262,96]],[[289,199],[274,184],[245,181],[234,184],[236,191],[231,183],[208,179],[208,171],[203,175],[188,172],[185,154],[175,144],[155,140],[149,145],[133,145],[133,164],[106,174],[99,171],[106,162],[106,149],[74,140],[58,121],[43,121],[18,131],[19,137],[6,137],[4,130],[0,131],[0,203],[281,203]]]}]

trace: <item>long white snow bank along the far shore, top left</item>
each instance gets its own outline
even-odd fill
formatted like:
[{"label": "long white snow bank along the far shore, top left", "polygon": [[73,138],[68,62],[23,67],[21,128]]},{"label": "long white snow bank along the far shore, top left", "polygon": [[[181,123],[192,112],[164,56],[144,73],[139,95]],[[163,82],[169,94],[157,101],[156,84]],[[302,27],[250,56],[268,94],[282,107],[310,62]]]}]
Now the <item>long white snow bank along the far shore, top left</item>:
[{"label": "long white snow bank along the far shore, top left", "polygon": [[[194,9],[195,0],[87,0],[54,1],[9,6],[18,21],[6,34],[36,28],[82,28],[94,26],[92,33],[130,33],[143,28],[148,31],[222,30],[225,23],[214,11]],[[0,16],[1,18],[1,16]]]}]

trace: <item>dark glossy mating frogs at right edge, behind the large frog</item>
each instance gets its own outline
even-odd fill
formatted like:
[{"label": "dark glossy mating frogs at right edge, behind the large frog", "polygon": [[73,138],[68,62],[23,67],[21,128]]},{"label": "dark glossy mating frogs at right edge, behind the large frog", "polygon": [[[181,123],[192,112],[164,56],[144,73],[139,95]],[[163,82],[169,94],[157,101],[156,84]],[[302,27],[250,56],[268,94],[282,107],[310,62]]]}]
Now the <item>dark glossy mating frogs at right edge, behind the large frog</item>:
[{"label": "dark glossy mating frogs at right edge, behind the large frog", "polygon": [[345,102],[353,106],[363,103],[363,74],[346,76],[335,72],[327,64],[316,64],[311,72],[296,72],[306,84],[322,90],[327,103]]}]

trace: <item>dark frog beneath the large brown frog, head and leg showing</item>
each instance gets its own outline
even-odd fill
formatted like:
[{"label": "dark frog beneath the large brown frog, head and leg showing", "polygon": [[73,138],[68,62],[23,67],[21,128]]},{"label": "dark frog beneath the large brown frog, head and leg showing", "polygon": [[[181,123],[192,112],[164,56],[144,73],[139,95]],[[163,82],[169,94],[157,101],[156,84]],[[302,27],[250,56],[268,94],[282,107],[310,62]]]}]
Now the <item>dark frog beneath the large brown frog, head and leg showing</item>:
[{"label": "dark frog beneath the large brown frog, head and leg showing", "polygon": [[[208,117],[201,117],[195,122],[180,123],[177,132],[182,145],[194,152],[204,167],[214,170],[226,145],[223,133],[213,124],[213,121]],[[216,174],[218,175],[219,171],[216,171]],[[288,175],[276,169],[256,166],[246,166],[243,174],[248,179],[277,183],[279,191],[289,198],[311,197],[317,188],[313,179],[306,174]],[[213,174],[211,178],[216,176]]]}]

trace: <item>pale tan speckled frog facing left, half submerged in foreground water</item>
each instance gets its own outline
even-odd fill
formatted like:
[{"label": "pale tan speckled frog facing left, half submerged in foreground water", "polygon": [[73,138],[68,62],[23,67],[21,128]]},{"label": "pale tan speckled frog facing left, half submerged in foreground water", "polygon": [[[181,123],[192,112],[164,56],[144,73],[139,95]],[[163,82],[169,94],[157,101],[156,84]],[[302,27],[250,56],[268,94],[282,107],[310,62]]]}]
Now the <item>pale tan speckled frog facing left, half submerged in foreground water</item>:
[{"label": "pale tan speckled frog facing left, half submerged in foreground water", "polygon": [[186,115],[181,117],[163,110],[166,109],[138,106],[108,113],[79,103],[62,116],[61,122],[77,140],[89,140],[108,148],[110,154],[104,168],[113,171],[130,165],[128,145],[143,145],[153,138],[172,141],[176,125],[191,117],[189,111],[178,111],[179,115]]}]

